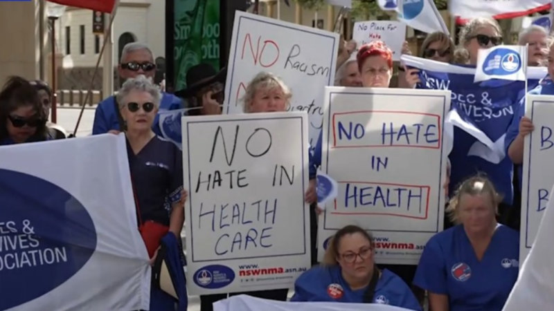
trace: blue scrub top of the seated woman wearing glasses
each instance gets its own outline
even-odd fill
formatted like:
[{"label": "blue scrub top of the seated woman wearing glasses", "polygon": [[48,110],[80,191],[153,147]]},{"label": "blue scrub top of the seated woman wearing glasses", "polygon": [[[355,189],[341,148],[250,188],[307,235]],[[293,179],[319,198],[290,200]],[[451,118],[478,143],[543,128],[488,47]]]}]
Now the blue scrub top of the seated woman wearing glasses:
[{"label": "blue scrub top of the seated woman wearing glasses", "polygon": [[[304,272],[294,283],[291,301],[334,301],[342,303],[363,303],[366,288],[350,290],[343,279],[341,267],[317,266]],[[421,310],[418,300],[399,276],[382,270],[375,286],[373,303],[394,305],[409,310]]]}]

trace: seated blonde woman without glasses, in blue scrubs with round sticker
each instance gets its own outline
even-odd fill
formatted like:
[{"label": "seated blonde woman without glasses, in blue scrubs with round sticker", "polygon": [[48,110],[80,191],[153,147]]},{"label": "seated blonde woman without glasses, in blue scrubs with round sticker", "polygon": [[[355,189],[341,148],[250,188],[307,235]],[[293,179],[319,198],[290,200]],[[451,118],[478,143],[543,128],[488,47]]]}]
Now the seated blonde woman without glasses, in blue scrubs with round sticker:
[{"label": "seated blonde woman without glasses, in blue scrubs with round sticker", "polygon": [[500,311],[519,269],[519,234],[495,218],[502,198],[492,182],[472,177],[447,209],[459,225],[425,246],[414,285],[429,291],[433,311]]}]

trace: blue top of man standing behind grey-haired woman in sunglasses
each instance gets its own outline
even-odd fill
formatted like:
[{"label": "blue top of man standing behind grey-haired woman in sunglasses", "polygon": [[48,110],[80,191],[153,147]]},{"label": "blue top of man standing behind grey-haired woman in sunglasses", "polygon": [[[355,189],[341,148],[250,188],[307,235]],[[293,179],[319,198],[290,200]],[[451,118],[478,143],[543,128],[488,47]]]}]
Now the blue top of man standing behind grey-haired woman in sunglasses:
[{"label": "blue top of man standing behind grey-haired woman in sunglasses", "polygon": [[[169,93],[162,93],[162,95],[159,113],[183,108],[183,100],[179,97]],[[120,131],[114,100],[115,96],[107,97],[96,107],[94,123],[92,125],[92,135],[105,134],[111,130]],[[156,115],[156,118],[152,123],[152,131],[154,131],[156,135],[161,136],[161,130],[159,128],[159,115]]]}]

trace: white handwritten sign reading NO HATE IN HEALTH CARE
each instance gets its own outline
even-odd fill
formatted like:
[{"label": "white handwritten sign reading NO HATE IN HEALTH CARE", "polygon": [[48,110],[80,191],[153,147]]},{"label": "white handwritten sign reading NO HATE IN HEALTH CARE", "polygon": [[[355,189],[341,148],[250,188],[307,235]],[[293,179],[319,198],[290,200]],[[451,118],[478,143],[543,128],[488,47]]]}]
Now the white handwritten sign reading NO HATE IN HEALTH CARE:
[{"label": "white handwritten sign reading NO HATE IN HEALTH CARE", "polygon": [[307,113],[182,124],[190,292],[292,287],[310,267]]}]

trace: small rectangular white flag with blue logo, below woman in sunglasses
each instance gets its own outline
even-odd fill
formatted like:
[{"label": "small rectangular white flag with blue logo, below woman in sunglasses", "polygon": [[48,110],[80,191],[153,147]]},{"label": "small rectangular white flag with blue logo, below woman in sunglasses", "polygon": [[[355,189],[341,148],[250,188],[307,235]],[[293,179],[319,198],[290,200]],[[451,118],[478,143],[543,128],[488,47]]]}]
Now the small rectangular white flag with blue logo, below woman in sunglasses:
[{"label": "small rectangular white flag with blue logo, below woman in sunglasses", "polygon": [[525,81],[526,46],[494,46],[479,50],[474,82],[488,79]]}]

